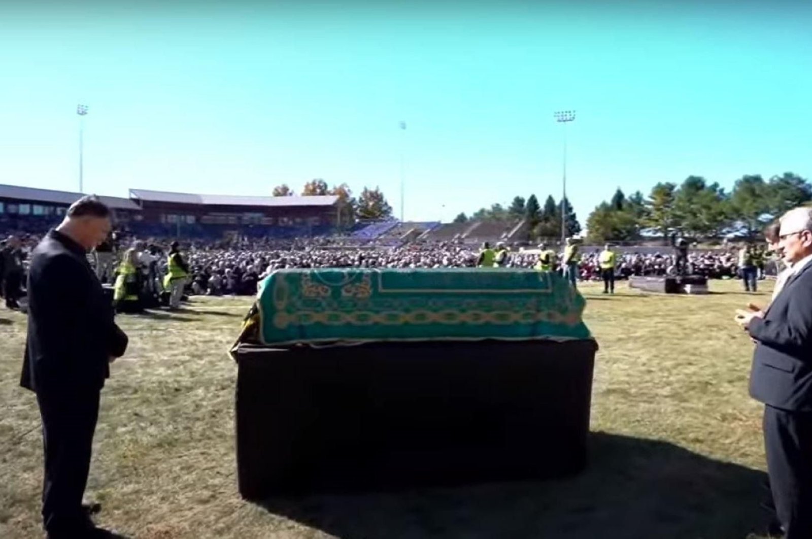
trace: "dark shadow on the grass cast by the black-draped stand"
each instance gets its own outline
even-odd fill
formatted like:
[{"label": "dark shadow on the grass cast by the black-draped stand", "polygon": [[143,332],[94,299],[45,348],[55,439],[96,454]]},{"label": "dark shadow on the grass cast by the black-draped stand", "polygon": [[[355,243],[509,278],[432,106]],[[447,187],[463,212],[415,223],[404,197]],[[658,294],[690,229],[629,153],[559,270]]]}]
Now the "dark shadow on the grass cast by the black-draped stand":
[{"label": "dark shadow on the grass cast by the black-draped stand", "polygon": [[[551,440],[555,443],[555,440]],[[743,539],[762,530],[766,474],[679,446],[593,433],[567,480],[389,494],[271,498],[261,507],[342,539],[619,537]]]}]

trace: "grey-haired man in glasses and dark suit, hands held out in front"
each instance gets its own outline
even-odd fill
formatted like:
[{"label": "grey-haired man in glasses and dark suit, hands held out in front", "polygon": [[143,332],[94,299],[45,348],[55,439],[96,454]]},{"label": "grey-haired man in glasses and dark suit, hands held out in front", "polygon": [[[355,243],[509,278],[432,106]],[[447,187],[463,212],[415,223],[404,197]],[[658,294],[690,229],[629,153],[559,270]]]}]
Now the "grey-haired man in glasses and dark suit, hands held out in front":
[{"label": "grey-haired man in glasses and dark suit, hands held out in front", "polygon": [[766,311],[738,311],[754,339],[750,395],[765,404],[764,442],[775,509],[787,539],[812,537],[812,209],[781,218],[791,265]]}]

